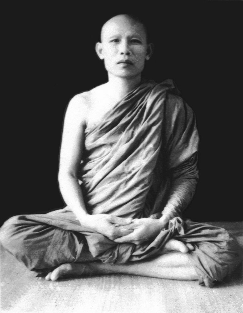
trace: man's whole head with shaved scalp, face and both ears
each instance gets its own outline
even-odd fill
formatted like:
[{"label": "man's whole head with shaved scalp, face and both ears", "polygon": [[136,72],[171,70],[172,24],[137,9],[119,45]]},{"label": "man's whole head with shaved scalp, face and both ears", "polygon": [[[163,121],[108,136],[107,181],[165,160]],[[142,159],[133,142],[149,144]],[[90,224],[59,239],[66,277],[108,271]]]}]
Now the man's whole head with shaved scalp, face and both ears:
[{"label": "man's whole head with shaved scalp, face and both ears", "polygon": [[96,51],[104,59],[109,74],[132,78],[141,74],[145,59],[149,59],[149,46],[142,24],[128,16],[118,15],[102,28],[101,43]]}]

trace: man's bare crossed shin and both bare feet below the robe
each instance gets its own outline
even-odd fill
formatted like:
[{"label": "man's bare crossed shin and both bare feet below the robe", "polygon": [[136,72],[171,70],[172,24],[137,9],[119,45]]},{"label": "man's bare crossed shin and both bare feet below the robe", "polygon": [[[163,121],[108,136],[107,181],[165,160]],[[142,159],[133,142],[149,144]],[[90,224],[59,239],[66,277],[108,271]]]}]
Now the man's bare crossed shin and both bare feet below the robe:
[{"label": "man's bare crossed shin and both bare feet below the robe", "polygon": [[[186,253],[188,248],[182,242],[171,239],[166,248],[171,249],[173,246],[177,252],[170,252],[154,259],[130,262],[127,264],[109,264],[102,262],[62,264],[48,273],[45,279],[58,280],[71,276],[129,274],[172,280],[197,280],[198,275]],[[182,249],[184,253],[179,252],[179,249]]]}]

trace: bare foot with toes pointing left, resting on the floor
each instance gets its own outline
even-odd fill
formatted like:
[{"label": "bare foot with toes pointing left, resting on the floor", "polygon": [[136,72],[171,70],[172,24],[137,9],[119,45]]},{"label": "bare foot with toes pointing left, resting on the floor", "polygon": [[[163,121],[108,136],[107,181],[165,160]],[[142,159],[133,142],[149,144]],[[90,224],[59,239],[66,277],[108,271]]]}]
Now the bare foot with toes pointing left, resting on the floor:
[{"label": "bare foot with toes pointing left, resting on the floor", "polygon": [[95,270],[90,264],[84,263],[65,263],[58,266],[52,272],[45,276],[46,280],[58,280],[66,277],[77,277],[86,275],[95,275]]}]

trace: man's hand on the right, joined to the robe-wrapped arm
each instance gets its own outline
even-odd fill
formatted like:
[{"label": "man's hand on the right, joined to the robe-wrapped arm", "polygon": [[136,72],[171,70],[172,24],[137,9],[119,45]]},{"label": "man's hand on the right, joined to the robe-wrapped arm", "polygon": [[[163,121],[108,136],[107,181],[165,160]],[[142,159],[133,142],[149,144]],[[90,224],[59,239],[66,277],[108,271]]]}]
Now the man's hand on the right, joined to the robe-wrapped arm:
[{"label": "man's hand on the right, joined to the robe-wrapped arm", "polygon": [[151,238],[155,238],[162,229],[166,227],[167,222],[159,219],[152,218],[135,218],[132,223],[124,228],[134,229],[134,231],[128,235],[117,238],[114,242],[125,243],[133,242],[135,244],[141,244],[148,241]]}]

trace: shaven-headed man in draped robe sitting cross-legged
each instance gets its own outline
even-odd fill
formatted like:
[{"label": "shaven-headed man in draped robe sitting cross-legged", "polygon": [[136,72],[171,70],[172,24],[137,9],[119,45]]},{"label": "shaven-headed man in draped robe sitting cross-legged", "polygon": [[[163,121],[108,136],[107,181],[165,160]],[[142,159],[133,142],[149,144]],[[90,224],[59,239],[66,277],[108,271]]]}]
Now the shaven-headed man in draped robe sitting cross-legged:
[{"label": "shaven-headed man in draped robe sitting cross-legged", "polygon": [[96,52],[108,82],[66,110],[58,181],[67,207],[2,227],[3,246],[46,280],[115,273],[212,287],[241,261],[225,229],[182,219],[198,181],[198,132],[172,80],[142,78],[152,50],[138,18],[103,25]]}]

